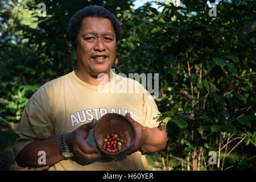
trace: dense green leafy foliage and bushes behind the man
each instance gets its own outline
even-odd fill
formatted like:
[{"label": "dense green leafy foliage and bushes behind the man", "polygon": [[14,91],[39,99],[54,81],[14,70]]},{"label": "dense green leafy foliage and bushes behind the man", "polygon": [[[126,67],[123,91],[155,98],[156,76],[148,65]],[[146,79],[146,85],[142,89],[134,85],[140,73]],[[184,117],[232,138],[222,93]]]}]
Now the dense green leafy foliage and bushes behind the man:
[{"label": "dense green leafy foliage and bushes behind the man", "polygon": [[[122,24],[116,73],[159,73],[156,104],[167,123],[167,147],[146,154],[150,170],[255,170],[255,2],[0,1],[0,169],[16,166],[15,128],[45,82],[76,68],[67,24],[88,5],[112,11]],[[163,2],[163,1],[161,1]],[[209,164],[216,151],[216,164]]]}]

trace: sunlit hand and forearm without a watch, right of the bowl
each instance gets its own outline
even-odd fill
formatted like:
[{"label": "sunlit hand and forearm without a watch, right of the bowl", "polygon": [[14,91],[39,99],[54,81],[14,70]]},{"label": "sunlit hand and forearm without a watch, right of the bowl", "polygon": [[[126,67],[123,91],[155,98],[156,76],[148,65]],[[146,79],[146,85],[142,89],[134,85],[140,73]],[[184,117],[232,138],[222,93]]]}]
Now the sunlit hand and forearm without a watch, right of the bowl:
[{"label": "sunlit hand and forearm without a watch, right of the bowl", "polygon": [[126,113],[125,117],[133,123],[136,131],[136,139],[133,146],[131,146],[130,150],[125,152],[124,155],[133,154],[141,150],[141,148],[149,153],[163,150],[167,143],[166,131],[160,131],[157,127],[152,129],[144,127],[131,118],[130,113]]}]

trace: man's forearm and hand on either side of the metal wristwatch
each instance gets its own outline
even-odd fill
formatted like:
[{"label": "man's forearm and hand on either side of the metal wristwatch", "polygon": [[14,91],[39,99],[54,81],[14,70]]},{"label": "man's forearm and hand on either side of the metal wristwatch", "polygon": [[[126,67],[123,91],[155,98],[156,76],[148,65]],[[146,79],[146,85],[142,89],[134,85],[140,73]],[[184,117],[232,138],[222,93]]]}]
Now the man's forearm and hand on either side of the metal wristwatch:
[{"label": "man's forearm and hand on either side of the metal wristwatch", "polygon": [[[89,146],[86,138],[89,131],[96,125],[97,119],[86,123],[75,131],[65,135],[65,142],[70,150],[81,158],[93,160],[101,157],[100,151],[96,147]],[[46,164],[39,164],[39,151],[46,152]],[[60,154],[60,136],[35,140],[24,147],[16,156],[16,163],[20,167],[44,167],[55,164],[62,160],[64,156]]]}]

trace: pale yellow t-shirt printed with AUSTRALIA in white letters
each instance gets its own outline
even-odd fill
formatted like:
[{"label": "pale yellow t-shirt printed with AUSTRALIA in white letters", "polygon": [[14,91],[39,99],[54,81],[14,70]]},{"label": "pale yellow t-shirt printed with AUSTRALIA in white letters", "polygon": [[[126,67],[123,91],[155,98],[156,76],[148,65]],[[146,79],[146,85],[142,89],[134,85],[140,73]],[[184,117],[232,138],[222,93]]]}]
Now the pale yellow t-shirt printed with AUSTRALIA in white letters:
[{"label": "pale yellow t-shirt printed with AUSTRALIA in white letters", "polygon": [[[23,110],[14,143],[15,157],[29,143],[72,132],[93,118],[106,113],[131,117],[147,127],[157,127],[158,107],[150,93],[141,84],[112,72],[112,79],[105,85],[93,86],[81,81],[75,72],[68,73],[44,84],[28,101]],[[131,87],[131,85],[134,85]],[[138,91],[139,90],[139,91]],[[87,138],[96,146],[93,129]],[[63,159],[49,170],[147,170],[141,152],[115,158],[102,157],[85,160],[72,157]]]}]

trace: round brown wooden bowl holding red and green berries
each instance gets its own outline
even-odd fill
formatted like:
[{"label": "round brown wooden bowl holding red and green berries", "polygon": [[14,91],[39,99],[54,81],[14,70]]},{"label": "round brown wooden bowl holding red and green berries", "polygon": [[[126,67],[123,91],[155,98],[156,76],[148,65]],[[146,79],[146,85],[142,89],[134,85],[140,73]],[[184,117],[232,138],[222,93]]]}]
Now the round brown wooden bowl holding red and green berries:
[{"label": "round brown wooden bowl holding red and green berries", "polygon": [[[123,139],[126,143],[122,143],[122,150],[116,153],[109,153],[102,149],[106,135],[118,134],[119,139]],[[133,145],[136,138],[136,131],[133,124],[121,114],[108,113],[104,114],[94,128],[93,137],[96,146],[104,155],[123,154]]]}]

